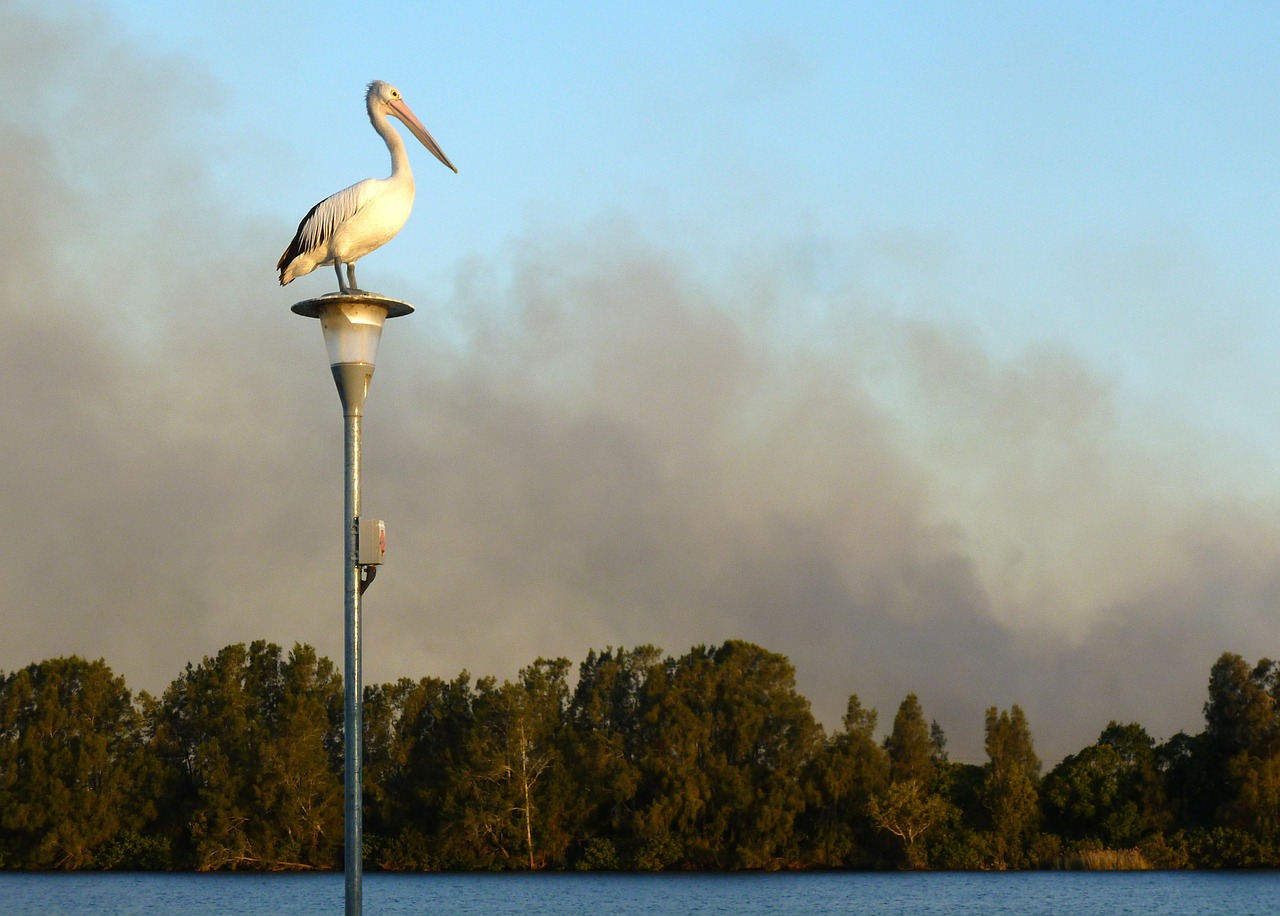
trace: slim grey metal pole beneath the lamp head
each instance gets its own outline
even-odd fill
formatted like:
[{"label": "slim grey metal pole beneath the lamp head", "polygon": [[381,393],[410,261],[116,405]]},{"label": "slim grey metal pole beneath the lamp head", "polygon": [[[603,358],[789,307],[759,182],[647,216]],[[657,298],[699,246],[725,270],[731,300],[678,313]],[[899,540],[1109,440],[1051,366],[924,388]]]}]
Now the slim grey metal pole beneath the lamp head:
[{"label": "slim grey metal pole beneath the lamp head", "polygon": [[343,841],[347,884],[347,916],[361,912],[361,874],[364,871],[364,714],[360,670],[360,407],[343,411],[346,425],[346,658],[343,668],[343,736],[346,754],[346,833]]}]

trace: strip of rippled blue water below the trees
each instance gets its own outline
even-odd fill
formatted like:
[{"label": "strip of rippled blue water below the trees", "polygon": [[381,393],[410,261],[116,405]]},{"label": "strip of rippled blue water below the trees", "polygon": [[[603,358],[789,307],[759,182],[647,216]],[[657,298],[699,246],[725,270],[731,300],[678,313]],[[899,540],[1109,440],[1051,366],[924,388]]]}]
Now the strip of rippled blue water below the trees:
[{"label": "strip of rippled blue water below the trees", "polygon": [[[366,874],[369,916],[433,913],[1274,913],[1275,871]],[[0,912],[340,913],[340,874],[0,873]]]}]

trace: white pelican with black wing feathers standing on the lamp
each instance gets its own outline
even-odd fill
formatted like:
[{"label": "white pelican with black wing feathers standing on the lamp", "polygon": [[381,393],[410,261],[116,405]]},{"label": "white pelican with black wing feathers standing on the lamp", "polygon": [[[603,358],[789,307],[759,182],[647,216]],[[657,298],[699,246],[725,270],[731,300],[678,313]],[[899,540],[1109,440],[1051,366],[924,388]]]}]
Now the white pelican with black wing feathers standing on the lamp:
[{"label": "white pelican with black wing feathers standing on the lamp", "polygon": [[[422,122],[410,111],[394,86],[380,79],[370,83],[365,107],[369,109],[374,129],[392,154],[390,178],[366,178],[311,207],[298,223],[298,232],[289,247],[280,255],[280,262],[275,265],[280,271],[282,287],[316,267],[332,264],[338,274],[338,289],[343,293],[358,293],[356,261],[392,241],[408,220],[410,210],[413,209],[413,173],[408,168],[404,141],[387,120],[387,115],[398,118],[422,146],[457,173],[457,168],[422,127]],[[346,280],[342,276],[343,265],[347,267]]]}]

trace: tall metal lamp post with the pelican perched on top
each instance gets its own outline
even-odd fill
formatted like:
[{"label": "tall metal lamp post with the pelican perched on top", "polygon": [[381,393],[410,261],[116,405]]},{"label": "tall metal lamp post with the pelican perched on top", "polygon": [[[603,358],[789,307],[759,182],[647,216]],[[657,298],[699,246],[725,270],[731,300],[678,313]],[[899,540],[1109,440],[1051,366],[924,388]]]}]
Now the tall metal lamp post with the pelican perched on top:
[{"label": "tall metal lamp post with the pelican perched on top", "polygon": [[[407,302],[372,293],[329,293],[293,306],[297,315],[320,319],[329,366],[338,384],[344,426],[343,500],[343,874],[347,888],[347,916],[361,911],[364,871],[364,770],[362,770],[362,674],[360,652],[360,604],[380,562],[380,545],[374,557],[361,557],[360,544],[360,421],[374,377],[374,357],[387,319],[408,315]],[[369,545],[374,546],[374,545]],[[366,549],[367,550],[367,549]]]}]

